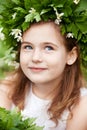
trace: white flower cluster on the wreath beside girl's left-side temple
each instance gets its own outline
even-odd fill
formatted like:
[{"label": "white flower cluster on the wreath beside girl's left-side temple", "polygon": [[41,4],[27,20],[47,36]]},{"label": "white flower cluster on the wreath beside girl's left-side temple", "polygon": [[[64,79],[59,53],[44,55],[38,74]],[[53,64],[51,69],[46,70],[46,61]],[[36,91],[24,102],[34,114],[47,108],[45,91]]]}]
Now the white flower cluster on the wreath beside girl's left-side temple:
[{"label": "white flower cluster on the wreath beside girl's left-side temple", "polygon": [[17,39],[17,42],[22,42],[22,31],[20,29],[12,29],[10,35],[14,36]]}]

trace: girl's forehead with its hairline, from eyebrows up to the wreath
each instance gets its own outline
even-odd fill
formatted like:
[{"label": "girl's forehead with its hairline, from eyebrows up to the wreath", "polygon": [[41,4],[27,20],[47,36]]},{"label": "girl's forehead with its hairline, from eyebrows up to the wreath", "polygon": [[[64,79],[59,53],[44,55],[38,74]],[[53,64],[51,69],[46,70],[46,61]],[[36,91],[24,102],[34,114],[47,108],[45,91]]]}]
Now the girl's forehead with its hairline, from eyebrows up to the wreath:
[{"label": "girl's forehead with its hairline, from eyebrows up to the wreath", "polygon": [[[23,35],[24,40],[36,39],[36,40],[56,40],[63,42],[63,36],[59,27],[53,23],[41,23],[32,25]],[[56,42],[55,41],[55,42]]]}]

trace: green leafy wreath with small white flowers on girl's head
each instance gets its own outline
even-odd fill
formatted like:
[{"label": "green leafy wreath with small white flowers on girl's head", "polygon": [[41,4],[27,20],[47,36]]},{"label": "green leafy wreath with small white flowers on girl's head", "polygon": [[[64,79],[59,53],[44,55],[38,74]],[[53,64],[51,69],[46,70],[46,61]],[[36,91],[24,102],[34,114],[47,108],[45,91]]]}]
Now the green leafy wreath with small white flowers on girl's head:
[{"label": "green leafy wreath with small white flowers on girl's head", "polygon": [[86,0],[1,0],[0,39],[16,50],[31,23],[54,20],[63,34],[77,39],[82,63],[87,65],[86,5]]}]

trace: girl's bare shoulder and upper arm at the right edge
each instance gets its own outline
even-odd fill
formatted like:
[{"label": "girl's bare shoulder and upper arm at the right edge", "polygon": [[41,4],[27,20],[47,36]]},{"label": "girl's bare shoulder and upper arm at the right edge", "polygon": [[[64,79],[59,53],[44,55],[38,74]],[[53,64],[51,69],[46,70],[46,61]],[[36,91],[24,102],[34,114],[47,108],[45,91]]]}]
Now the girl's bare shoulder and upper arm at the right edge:
[{"label": "girl's bare shoulder and upper arm at the right edge", "polygon": [[68,120],[67,130],[87,130],[87,89],[81,89],[79,103],[72,109],[72,118]]}]

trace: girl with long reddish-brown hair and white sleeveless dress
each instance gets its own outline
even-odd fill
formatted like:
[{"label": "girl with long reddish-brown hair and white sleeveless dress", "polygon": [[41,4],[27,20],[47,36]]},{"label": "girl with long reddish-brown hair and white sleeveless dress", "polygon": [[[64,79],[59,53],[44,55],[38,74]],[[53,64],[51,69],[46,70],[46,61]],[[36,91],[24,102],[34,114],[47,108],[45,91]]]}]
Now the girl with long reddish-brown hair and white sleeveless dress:
[{"label": "girl with long reddish-brown hair and white sleeveless dress", "polygon": [[0,86],[0,106],[18,107],[44,130],[87,130],[87,90],[77,41],[52,21],[23,33],[19,68]]}]

